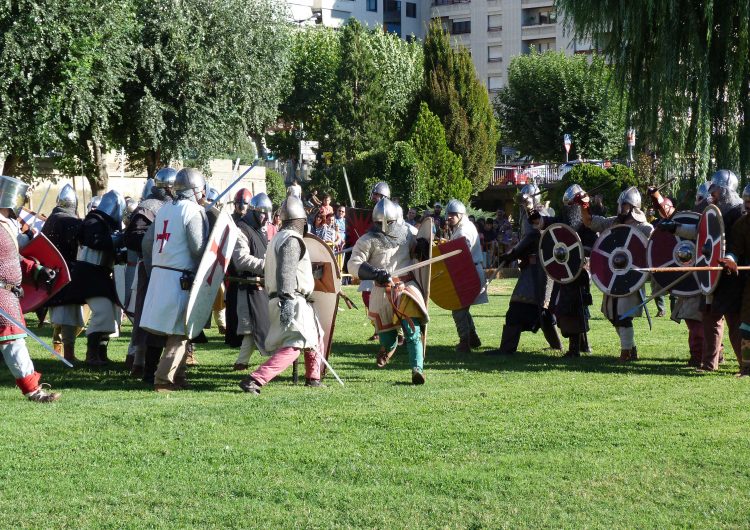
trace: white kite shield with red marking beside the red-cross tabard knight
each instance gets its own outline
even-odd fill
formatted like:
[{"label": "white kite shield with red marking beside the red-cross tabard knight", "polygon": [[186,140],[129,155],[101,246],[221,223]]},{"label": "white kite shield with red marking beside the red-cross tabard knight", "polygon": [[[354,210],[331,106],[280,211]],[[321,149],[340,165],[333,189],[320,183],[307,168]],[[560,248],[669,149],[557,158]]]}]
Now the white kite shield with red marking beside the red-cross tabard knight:
[{"label": "white kite shield with red marking beside the red-cross tabard knight", "polygon": [[239,230],[226,212],[216,218],[211,235],[208,236],[206,250],[203,253],[198,270],[195,272],[193,287],[190,289],[187,311],[185,312],[185,330],[188,338],[200,335],[203,326],[211,316],[216,293],[219,292],[224,274],[232,258],[234,245],[237,243]]}]

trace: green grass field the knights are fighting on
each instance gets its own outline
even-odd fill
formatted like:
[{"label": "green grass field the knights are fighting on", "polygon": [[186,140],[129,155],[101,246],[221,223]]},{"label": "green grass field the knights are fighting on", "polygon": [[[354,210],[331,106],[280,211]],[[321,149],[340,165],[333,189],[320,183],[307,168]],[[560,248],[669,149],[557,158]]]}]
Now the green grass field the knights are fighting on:
[{"label": "green grass field the knights are fighting on", "polygon": [[[478,352],[454,353],[453,321],[433,309],[423,387],[407,384],[405,351],[375,367],[361,307],[336,328],[344,388],[293,386],[288,372],[243,394],[213,330],[194,390],[169,395],[121,362],[69,370],[31,346],[64,394],[32,404],[0,372],[0,528],[750,525],[750,381],[732,377],[731,350],[697,375],[684,324],[640,319],[642,360],[622,366],[595,306],[591,356],[543,351],[539,333],[489,357],[512,280],[492,286],[474,310]],[[111,357],[128,340],[125,328]]]}]

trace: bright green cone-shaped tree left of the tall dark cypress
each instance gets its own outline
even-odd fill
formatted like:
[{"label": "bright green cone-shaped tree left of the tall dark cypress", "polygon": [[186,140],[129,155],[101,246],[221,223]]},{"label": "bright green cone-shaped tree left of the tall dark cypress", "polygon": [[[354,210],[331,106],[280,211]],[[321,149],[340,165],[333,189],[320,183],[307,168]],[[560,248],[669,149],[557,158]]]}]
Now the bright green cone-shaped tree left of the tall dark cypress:
[{"label": "bright green cone-shaped tree left of the tall dark cypress", "polygon": [[459,199],[467,203],[471,182],[464,178],[461,157],[448,148],[445,136],[440,118],[422,103],[409,143],[424,168],[425,198],[430,202]]}]

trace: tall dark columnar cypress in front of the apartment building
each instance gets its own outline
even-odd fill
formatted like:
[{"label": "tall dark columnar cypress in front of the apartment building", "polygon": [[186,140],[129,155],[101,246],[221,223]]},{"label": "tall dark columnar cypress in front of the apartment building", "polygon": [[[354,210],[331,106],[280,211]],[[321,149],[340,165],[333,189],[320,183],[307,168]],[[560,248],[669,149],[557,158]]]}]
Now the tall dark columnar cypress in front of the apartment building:
[{"label": "tall dark columnar cypress in front of the apartment building", "polygon": [[424,101],[437,114],[449,148],[459,155],[475,191],[487,187],[495,164],[499,134],[487,89],[479,81],[471,54],[452,50],[439,21],[424,42]]}]

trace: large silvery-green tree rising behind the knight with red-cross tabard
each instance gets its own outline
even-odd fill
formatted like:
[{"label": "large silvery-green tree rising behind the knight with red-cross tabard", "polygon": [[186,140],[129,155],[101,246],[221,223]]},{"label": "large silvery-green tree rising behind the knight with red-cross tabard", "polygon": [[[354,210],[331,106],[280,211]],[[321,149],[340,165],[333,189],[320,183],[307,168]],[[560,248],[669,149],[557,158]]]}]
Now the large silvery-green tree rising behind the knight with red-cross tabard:
[{"label": "large silvery-green tree rising behind the knight with red-cross tabard", "polygon": [[206,161],[275,122],[291,47],[284,4],[135,1],[138,62],[117,139],[149,176],[171,159]]}]

